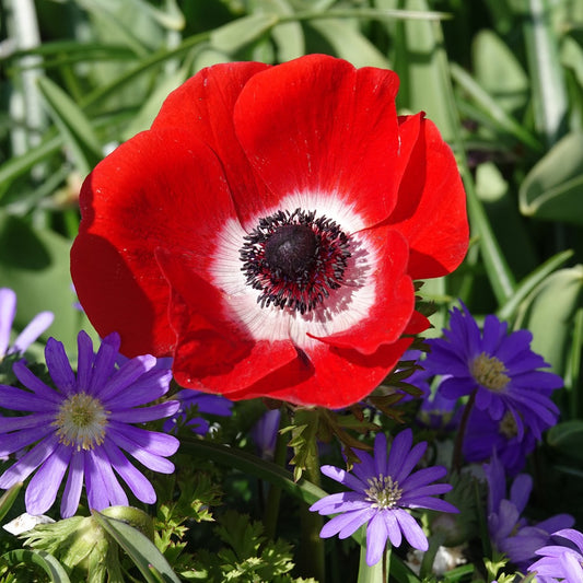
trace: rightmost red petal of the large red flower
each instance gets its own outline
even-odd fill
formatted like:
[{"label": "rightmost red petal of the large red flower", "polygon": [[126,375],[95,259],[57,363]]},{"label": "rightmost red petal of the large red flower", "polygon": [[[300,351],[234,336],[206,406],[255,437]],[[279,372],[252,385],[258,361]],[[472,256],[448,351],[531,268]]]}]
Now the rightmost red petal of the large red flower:
[{"label": "rightmost red petal of the large red flower", "polygon": [[422,114],[399,119],[401,143],[415,147],[388,223],[409,242],[413,279],[445,276],[468,246],[466,195],[455,158],[434,124]]}]

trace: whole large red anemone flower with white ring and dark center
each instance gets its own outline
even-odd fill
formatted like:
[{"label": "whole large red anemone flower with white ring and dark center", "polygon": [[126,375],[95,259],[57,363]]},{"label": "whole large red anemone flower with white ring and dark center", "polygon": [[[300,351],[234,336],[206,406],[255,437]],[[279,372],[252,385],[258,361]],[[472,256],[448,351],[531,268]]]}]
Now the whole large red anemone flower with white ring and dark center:
[{"label": "whole large red anemone flower with white ring and dark center", "polygon": [[89,318],[184,387],[339,408],[412,334],[413,279],[467,249],[465,194],[397,75],[310,55],[210,67],[86,178],[71,252]]}]

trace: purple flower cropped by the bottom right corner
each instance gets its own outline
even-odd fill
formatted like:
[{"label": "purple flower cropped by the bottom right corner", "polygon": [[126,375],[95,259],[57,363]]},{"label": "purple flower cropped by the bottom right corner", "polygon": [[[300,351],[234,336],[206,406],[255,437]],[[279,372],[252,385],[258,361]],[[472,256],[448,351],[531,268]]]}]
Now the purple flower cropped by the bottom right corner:
[{"label": "purple flower cropped by the bottom right corner", "polygon": [[574,528],[562,528],[552,534],[558,545],[539,548],[536,555],[541,558],[528,568],[536,571],[537,581],[581,583],[583,581],[583,534]]}]

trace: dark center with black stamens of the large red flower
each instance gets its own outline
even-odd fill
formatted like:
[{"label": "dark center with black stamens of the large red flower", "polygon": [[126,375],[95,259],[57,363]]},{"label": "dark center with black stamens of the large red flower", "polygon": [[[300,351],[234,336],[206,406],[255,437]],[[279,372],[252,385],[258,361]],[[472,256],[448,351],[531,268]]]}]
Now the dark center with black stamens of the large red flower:
[{"label": "dark center with black stamens of the large red flower", "polygon": [[331,220],[295,209],[259,219],[240,249],[246,283],[273,304],[310,312],[343,282],[349,237]]}]

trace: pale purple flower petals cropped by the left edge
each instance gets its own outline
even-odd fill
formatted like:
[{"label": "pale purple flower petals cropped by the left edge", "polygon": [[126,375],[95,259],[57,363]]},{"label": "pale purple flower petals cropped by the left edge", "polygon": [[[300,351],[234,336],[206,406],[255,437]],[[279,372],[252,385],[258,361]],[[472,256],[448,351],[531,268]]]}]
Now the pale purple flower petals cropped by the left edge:
[{"label": "pale purple flower petals cropped by the left edge", "polygon": [[10,335],[16,316],[16,294],[9,288],[0,288],[0,360],[10,354],[22,354],[53,324],[53,312],[40,312],[10,343]]}]

